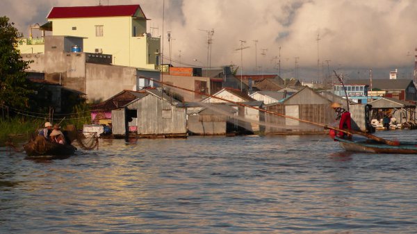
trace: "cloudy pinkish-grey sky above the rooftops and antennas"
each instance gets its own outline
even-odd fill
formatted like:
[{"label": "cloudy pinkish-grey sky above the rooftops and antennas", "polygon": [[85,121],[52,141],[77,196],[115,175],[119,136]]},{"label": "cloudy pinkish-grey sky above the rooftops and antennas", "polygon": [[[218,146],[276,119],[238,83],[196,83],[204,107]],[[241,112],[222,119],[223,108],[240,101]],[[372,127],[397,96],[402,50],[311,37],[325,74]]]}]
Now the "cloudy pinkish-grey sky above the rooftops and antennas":
[{"label": "cloudy pinkish-grey sky above the rooftops and antennas", "polygon": [[28,37],[28,26],[47,22],[54,6],[100,3],[139,4],[174,66],[236,65],[243,74],[306,82],[333,70],[352,79],[369,78],[370,69],[373,78],[414,74],[414,0],[1,0],[0,16]]}]

